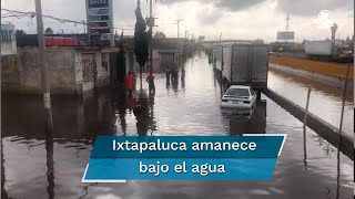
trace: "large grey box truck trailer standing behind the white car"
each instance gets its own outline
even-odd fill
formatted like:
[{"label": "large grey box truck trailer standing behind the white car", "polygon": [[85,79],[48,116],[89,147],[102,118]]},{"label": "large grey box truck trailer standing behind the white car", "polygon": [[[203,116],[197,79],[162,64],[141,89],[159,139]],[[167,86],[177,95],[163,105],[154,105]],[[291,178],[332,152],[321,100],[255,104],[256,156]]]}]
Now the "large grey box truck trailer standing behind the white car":
[{"label": "large grey box truck trailer standing behind the white car", "polygon": [[227,85],[250,85],[254,90],[267,87],[268,45],[224,45],[222,73]]}]

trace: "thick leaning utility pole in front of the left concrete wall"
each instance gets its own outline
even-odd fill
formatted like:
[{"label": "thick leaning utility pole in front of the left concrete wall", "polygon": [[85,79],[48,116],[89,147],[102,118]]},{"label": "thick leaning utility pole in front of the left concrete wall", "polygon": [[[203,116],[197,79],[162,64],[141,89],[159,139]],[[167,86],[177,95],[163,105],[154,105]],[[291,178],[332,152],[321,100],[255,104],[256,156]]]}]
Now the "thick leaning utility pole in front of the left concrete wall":
[{"label": "thick leaning utility pole in front of the left concrete wall", "polygon": [[38,35],[38,44],[40,50],[39,65],[41,67],[41,84],[42,84],[42,91],[43,91],[44,114],[45,114],[44,115],[45,132],[52,132],[53,121],[52,121],[52,107],[51,107],[51,93],[50,93],[50,85],[48,80],[41,0],[36,0],[36,14],[37,14],[37,32],[38,32],[37,35]]}]

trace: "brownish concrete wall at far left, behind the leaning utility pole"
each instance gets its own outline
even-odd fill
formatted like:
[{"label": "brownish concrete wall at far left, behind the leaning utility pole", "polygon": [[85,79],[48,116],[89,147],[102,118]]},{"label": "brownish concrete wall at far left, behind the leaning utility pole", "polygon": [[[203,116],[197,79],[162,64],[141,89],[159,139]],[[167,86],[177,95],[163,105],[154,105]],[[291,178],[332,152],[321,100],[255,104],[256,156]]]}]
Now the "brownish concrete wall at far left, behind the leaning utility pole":
[{"label": "brownish concrete wall at far left, behind the leaning utility pole", "polygon": [[[1,59],[1,87],[4,92],[41,93],[39,50],[19,48],[17,55]],[[74,50],[48,48],[47,63],[52,93],[75,93]]]}]

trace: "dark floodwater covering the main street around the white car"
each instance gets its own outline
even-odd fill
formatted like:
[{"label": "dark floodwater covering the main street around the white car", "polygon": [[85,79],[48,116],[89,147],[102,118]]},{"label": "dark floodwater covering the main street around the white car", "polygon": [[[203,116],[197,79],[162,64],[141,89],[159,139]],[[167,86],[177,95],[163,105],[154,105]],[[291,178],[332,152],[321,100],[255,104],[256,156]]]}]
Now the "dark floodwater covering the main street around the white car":
[{"label": "dark floodwater covering the main street around the white car", "polygon": [[[146,96],[144,82],[138,102],[110,91],[54,97],[53,134],[44,133],[41,97],[2,95],[2,198],[353,198],[354,163],[343,154],[337,159],[337,149],[313,130],[304,137],[303,124],[273,101],[263,95],[251,116],[222,111],[220,84],[204,54],[173,80],[155,76],[155,96]],[[272,180],[81,184],[98,135],[241,132],[287,134]]]}]

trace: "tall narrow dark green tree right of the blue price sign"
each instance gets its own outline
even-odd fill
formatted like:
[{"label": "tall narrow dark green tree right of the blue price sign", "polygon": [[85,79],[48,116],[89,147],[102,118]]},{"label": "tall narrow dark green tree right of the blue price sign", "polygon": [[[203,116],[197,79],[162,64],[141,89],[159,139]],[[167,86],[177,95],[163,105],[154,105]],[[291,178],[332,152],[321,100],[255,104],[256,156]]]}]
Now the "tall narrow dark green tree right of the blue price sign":
[{"label": "tall narrow dark green tree right of the blue price sign", "polygon": [[140,0],[135,9],[135,29],[134,29],[134,54],[136,62],[140,64],[140,78],[142,88],[142,69],[149,60],[149,40],[150,34],[146,32],[146,24],[142,17]]}]

